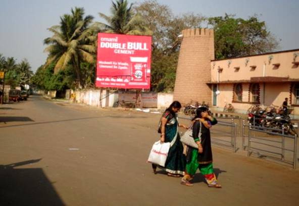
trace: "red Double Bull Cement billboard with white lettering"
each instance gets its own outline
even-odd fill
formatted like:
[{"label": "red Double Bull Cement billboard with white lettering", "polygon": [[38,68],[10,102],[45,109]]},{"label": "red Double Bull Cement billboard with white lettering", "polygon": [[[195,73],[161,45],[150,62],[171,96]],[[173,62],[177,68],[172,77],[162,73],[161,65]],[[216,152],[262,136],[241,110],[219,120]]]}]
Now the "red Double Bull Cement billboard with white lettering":
[{"label": "red Double Bull Cement billboard with white lettering", "polygon": [[98,33],[97,87],[150,89],[152,37]]}]

